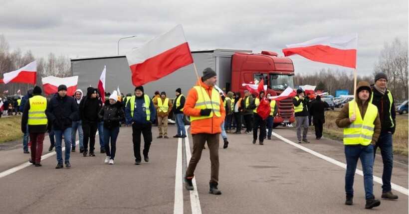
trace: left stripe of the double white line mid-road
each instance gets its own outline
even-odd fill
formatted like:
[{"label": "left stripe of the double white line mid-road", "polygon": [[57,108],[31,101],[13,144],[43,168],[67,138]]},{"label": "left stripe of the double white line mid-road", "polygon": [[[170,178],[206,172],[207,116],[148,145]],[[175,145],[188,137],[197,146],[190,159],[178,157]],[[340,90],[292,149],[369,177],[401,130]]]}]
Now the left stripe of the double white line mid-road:
[{"label": "left stripe of the double white line mid-road", "polygon": [[183,214],[182,139],[183,138],[178,138],[178,157],[176,159],[175,172],[175,204],[173,206],[174,214]]}]

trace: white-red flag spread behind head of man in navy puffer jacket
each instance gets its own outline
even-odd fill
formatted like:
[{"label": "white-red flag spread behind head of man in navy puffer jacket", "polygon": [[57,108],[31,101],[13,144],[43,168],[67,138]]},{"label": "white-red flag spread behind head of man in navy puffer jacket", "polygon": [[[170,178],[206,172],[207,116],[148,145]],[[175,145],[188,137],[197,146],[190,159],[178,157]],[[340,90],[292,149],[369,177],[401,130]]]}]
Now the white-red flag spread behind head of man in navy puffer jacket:
[{"label": "white-red flag spread behind head of man in navy puffer jacket", "polygon": [[54,77],[48,76],[41,78],[42,88],[46,95],[52,95],[58,92],[59,85],[65,85],[67,87],[67,95],[73,96],[77,90],[78,76],[73,77]]}]

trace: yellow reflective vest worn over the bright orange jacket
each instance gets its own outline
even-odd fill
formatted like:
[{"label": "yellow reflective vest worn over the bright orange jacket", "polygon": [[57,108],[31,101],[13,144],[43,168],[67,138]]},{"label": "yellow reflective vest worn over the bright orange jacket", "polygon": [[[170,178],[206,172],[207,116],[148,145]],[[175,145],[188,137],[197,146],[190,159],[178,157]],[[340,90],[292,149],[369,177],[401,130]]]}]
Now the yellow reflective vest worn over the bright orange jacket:
[{"label": "yellow reflective vest worn over the bright orange jacket", "polygon": [[200,86],[193,87],[198,93],[198,100],[196,101],[195,107],[196,109],[206,109],[211,108],[212,111],[208,116],[190,116],[191,122],[198,119],[207,119],[213,117],[213,113],[215,116],[220,117],[220,95],[219,93],[213,88],[211,91],[211,99],[206,93],[205,89]]}]

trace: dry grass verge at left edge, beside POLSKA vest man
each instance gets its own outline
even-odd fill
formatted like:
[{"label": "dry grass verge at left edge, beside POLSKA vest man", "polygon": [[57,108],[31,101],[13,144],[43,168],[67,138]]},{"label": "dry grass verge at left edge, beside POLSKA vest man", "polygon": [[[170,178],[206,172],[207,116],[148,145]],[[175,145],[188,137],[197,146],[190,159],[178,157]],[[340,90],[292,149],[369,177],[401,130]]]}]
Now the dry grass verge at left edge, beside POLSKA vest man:
[{"label": "dry grass verge at left edge, beside POLSKA vest man", "polygon": [[1,117],[0,130],[0,143],[22,138],[21,115]]}]

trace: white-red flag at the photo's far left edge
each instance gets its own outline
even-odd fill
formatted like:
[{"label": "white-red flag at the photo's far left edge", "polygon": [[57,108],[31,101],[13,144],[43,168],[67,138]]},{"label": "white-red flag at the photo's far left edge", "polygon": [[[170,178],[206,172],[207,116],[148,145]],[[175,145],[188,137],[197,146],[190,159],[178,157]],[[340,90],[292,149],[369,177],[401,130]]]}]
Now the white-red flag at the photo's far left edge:
[{"label": "white-red flag at the photo's far left edge", "polygon": [[12,72],[4,73],[0,83],[28,83],[35,84],[37,79],[37,60]]}]

